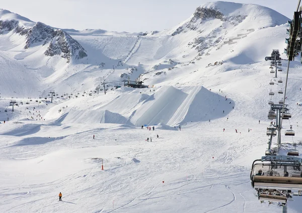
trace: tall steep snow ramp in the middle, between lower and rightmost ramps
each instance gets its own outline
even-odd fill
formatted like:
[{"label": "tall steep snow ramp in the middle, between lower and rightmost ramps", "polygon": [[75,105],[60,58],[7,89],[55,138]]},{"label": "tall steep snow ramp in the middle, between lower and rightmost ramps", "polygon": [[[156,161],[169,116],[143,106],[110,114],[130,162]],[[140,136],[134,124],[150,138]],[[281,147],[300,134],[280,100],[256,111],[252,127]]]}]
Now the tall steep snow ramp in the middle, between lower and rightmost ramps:
[{"label": "tall steep snow ramp in the middle, between lower and rightmost ramps", "polygon": [[187,95],[173,86],[164,86],[143,102],[130,121],[137,127],[167,124]]}]

